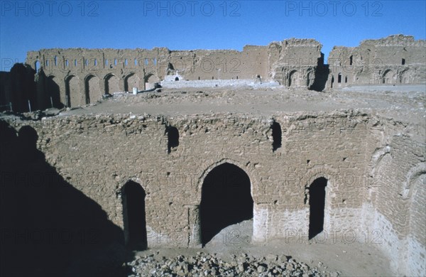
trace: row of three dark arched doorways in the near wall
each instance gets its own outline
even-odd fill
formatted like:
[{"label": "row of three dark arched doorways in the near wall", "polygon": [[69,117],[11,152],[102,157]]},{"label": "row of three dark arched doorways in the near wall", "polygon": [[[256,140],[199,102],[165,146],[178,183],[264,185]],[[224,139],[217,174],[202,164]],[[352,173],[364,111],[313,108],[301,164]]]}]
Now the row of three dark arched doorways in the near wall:
[{"label": "row of three dark arched doorways in the near wall", "polygon": [[[309,185],[309,239],[324,230],[328,180],[315,178]],[[146,191],[133,180],[122,188],[124,234],[133,249],[148,247],[146,230]],[[202,181],[200,202],[201,243],[205,246],[222,229],[253,219],[251,180],[239,166],[226,161],[216,165]]]}]

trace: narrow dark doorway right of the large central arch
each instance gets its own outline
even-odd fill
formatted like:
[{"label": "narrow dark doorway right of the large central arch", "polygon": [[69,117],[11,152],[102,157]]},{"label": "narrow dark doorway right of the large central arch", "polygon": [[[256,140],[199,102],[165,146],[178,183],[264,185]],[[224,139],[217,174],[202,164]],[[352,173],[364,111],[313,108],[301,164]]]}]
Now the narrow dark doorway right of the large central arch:
[{"label": "narrow dark doorway right of the large central arch", "polygon": [[324,231],[325,187],[327,179],[317,178],[309,188],[309,239]]}]

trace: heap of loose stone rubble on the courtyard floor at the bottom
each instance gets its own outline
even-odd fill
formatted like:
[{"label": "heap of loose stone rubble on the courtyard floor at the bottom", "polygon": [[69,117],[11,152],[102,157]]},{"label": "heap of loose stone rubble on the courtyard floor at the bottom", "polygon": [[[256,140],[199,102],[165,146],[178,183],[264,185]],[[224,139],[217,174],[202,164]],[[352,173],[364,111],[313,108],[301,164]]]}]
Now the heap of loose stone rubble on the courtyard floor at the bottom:
[{"label": "heap of loose stone rubble on the courtyard floor at the bottom", "polygon": [[174,258],[144,255],[127,263],[131,273],[136,276],[341,276],[340,272],[325,271],[322,264],[311,268],[305,263],[295,261],[290,256],[268,255],[252,257],[247,254],[231,256],[230,261],[217,254],[197,252],[196,256],[179,255]]}]

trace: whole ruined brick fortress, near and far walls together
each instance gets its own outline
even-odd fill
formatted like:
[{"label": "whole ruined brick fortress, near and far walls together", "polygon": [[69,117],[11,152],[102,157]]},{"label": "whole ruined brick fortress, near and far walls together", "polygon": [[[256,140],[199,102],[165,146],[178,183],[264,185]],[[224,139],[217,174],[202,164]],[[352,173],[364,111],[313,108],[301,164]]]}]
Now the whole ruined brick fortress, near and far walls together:
[{"label": "whole ruined brick fortress, near and far walls together", "polygon": [[[38,70],[35,106],[49,107],[50,97],[54,107],[85,106],[57,116],[2,114],[2,195],[19,195],[4,196],[3,205],[19,215],[28,211],[16,199],[49,200],[31,206],[34,213],[58,210],[66,220],[56,220],[65,227],[92,227],[101,241],[142,248],[200,247],[224,227],[249,219],[253,244],[371,244],[393,272],[425,275],[424,92],[368,94],[366,88],[354,104],[339,98],[344,90],[332,92],[352,85],[425,84],[425,50],[425,40],[410,36],[364,40],[357,48],[334,48],[329,65],[320,43],[305,39],[241,52],[28,52],[28,64]],[[165,96],[120,94],[90,105],[104,94],[182,80],[279,85],[241,92],[241,98],[229,87],[170,89]],[[264,108],[263,92],[273,99]],[[226,103],[212,104],[232,97],[258,102],[249,112],[232,106],[221,112]],[[190,105],[179,99],[204,112],[186,110]],[[398,103],[397,112],[381,105],[383,99]],[[143,103],[157,113],[138,109]],[[6,224],[17,220],[5,218]],[[35,226],[55,226],[55,219],[40,218]]]}]

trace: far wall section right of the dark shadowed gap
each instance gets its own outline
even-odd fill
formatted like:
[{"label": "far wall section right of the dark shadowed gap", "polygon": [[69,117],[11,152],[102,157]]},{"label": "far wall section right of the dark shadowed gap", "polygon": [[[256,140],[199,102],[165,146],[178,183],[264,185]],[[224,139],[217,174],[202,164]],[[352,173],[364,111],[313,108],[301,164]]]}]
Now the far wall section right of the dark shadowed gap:
[{"label": "far wall section right of the dark shadowed gap", "polygon": [[426,41],[413,36],[364,40],[358,47],[334,46],[327,87],[426,82]]}]

